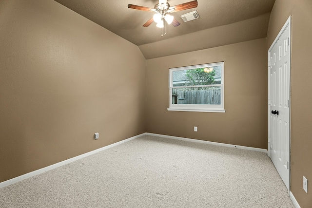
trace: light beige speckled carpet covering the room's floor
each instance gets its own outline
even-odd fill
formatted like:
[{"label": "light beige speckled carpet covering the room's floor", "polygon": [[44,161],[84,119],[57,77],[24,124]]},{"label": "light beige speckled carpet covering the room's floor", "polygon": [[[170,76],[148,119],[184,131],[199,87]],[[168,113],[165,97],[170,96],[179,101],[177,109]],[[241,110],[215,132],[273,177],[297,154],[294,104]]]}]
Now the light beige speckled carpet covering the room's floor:
[{"label": "light beige speckled carpet covering the room's floor", "polygon": [[0,208],[294,208],[263,152],[142,136],[0,189]]}]

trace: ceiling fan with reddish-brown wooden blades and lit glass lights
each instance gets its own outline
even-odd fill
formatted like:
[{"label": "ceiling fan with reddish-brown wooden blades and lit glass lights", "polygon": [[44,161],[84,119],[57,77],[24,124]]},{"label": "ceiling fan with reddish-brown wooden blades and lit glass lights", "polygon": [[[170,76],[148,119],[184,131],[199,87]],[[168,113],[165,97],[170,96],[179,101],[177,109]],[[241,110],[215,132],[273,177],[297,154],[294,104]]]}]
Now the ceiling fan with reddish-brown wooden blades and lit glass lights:
[{"label": "ceiling fan with reddish-brown wooden blades and lit glass lights", "polygon": [[[157,27],[163,28],[166,25],[165,21],[168,24],[172,24],[174,27],[177,27],[180,25],[180,22],[178,22],[172,15],[170,15],[170,13],[174,13],[174,12],[178,12],[178,11],[182,11],[186,9],[191,9],[191,8],[196,8],[197,5],[198,5],[197,0],[193,0],[190,2],[186,2],[186,3],[181,3],[176,6],[170,6],[167,0],[159,0],[159,2],[155,4],[154,8],[138,6],[134,4],[128,4],[128,8],[148,11],[148,12],[155,12],[156,14],[154,14],[153,18],[148,20],[145,24],[143,24],[143,27],[148,27],[153,23],[153,21],[155,21],[157,23],[156,24]],[[165,31],[165,35],[166,35],[166,31]],[[161,36],[163,35],[161,34]]]}]

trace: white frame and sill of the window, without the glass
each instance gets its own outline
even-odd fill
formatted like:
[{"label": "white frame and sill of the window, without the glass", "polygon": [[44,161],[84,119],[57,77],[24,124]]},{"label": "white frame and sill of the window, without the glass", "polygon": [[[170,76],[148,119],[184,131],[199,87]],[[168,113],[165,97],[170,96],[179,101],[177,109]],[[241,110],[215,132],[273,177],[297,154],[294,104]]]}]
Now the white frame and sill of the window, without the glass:
[{"label": "white frame and sill of the window, without the glass", "polygon": [[[181,70],[190,70],[198,68],[209,68],[221,66],[221,84],[212,84],[212,85],[193,85],[192,87],[221,87],[221,102],[220,105],[207,105],[207,104],[173,104],[172,103],[172,89],[174,88],[185,88],[186,86],[173,86],[173,72]],[[191,86],[188,86],[191,87]],[[210,63],[210,64],[201,64],[185,67],[177,67],[169,69],[169,108],[168,111],[191,111],[191,112],[213,112],[213,113],[225,113],[224,110],[224,62]]]}]

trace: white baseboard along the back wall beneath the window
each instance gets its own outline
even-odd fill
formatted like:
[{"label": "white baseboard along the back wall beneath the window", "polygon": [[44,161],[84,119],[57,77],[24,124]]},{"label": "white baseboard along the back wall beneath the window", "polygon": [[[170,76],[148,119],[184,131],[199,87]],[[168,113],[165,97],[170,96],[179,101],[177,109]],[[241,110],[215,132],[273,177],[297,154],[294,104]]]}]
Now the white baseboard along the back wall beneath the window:
[{"label": "white baseboard along the back wall beneath the window", "polygon": [[224,143],[218,143],[218,142],[209,142],[209,141],[204,141],[204,140],[189,139],[189,138],[183,138],[183,137],[177,137],[177,136],[168,136],[168,135],[156,134],[156,133],[145,133],[145,134],[151,135],[151,136],[160,136],[160,137],[165,137],[165,138],[170,138],[170,139],[178,139],[178,140],[182,140],[182,141],[197,142],[197,143],[217,145],[217,146],[223,146],[223,147],[231,147],[231,148],[237,148],[237,149],[243,149],[243,150],[261,151],[261,152],[268,154],[268,150],[261,149],[261,148],[245,147],[245,146],[239,146],[239,145],[230,145],[230,144],[224,144]]}]

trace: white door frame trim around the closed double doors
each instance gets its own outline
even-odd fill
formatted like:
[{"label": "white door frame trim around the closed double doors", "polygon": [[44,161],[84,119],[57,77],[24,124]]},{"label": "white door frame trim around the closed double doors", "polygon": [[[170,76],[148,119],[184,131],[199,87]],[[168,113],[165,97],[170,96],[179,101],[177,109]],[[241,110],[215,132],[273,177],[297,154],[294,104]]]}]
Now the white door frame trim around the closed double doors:
[{"label": "white door frame trim around the closed double doors", "polygon": [[270,51],[272,50],[274,44],[278,41],[278,39],[281,37],[281,35],[283,34],[283,32],[286,30],[286,28],[289,26],[289,30],[290,30],[290,69],[289,69],[289,187],[287,187],[288,189],[288,193],[290,193],[290,188],[291,188],[291,100],[292,100],[292,16],[289,16],[289,18],[286,20],[285,24],[283,25],[282,29],[279,31],[278,35],[276,36],[276,38],[274,39],[273,43],[271,44],[269,50],[268,50],[268,156],[271,158],[270,156],[270,90],[271,90],[271,86],[270,86],[270,64],[271,64],[271,60],[270,60]]}]

